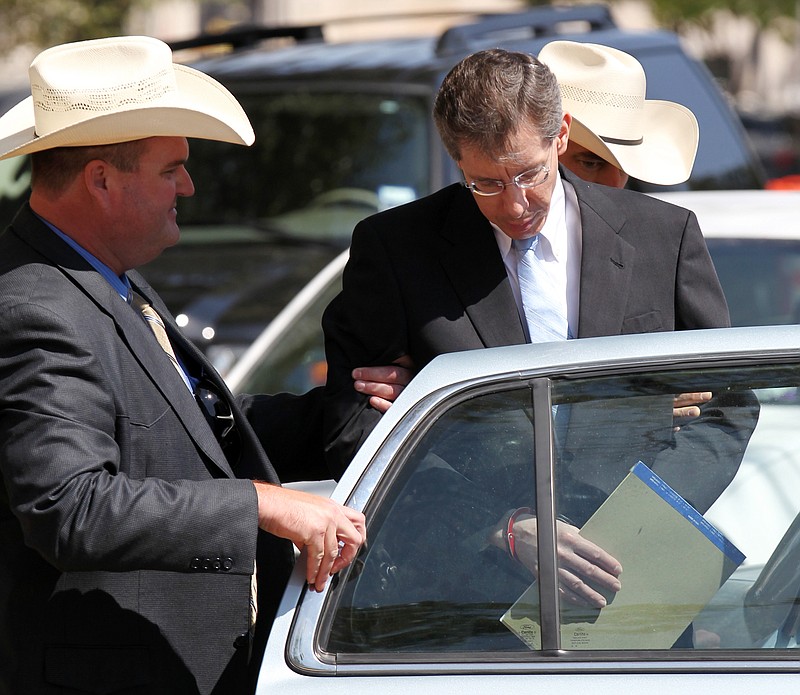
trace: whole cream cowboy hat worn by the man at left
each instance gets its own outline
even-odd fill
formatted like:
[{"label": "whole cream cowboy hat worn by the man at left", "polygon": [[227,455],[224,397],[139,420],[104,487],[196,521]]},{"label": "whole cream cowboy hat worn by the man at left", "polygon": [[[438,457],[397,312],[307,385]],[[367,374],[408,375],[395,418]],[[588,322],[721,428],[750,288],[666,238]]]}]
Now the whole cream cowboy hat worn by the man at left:
[{"label": "whole cream cowboy hat worn by the man at left", "polygon": [[121,36],[40,53],[31,96],[0,117],[0,159],[153,136],[251,145],[253,128],[219,82],[172,62],[163,41]]}]

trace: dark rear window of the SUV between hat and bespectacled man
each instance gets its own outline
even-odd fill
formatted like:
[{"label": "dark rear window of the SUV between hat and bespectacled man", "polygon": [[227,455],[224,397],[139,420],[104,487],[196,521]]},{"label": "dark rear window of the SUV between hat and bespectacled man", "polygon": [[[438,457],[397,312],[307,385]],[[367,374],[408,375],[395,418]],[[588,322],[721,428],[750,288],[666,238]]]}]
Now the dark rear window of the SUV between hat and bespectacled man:
[{"label": "dark rear window of the SUV between hat and bespectacled man", "polygon": [[237,98],[256,141],[192,143],[190,170],[202,195],[182,201],[183,225],[248,222],[346,244],[358,220],[430,188],[422,97],[293,85]]}]

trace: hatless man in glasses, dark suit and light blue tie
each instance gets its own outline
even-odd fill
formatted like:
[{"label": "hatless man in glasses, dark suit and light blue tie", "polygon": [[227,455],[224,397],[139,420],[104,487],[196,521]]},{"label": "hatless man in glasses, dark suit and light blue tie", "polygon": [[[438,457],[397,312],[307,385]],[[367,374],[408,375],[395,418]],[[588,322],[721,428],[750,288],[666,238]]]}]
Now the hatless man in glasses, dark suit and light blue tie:
[{"label": "hatless man in glasses, dark suit and light blue tie", "polygon": [[[692,212],[585,182],[559,166],[575,120],[562,110],[558,83],[542,62],[499,49],[464,58],[444,79],[434,120],[463,183],[360,222],[343,289],[323,316],[326,441],[334,471],[344,470],[380,417],[350,387],[356,365],[407,356],[419,369],[459,350],[729,325]],[[611,131],[618,139],[625,133]],[[538,266],[538,284],[529,289],[532,266]],[[631,451],[647,450],[645,463],[701,511],[730,482],[757,407],[748,399],[731,409],[701,406],[692,429],[708,438],[698,442],[692,433],[673,432],[670,403],[661,405],[619,423],[618,459],[609,451],[608,461],[592,462],[604,472],[604,489],[576,497],[563,512],[578,526],[627,474]],[[585,459],[572,432],[595,431],[573,430],[579,416],[592,413],[573,409],[566,446],[575,455],[562,459],[560,471],[578,481]],[[642,431],[634,419],[652,427],[644,446],[626,439]],[[695,465],[698,447],[703,466]],[[526,491],[532,492],[515,486],[509,501]],[[535,515],[528,510],[511,518],[519,531],[515,556],[533,573]],[[508,516],[499,518],[491,535],[498,547],[508,523]],[[559,522],[561,590],[568,600],[602,606],[597,589],[619,589],[618,563],[576,531]],[[594,586],[583,579],[588,569]]]}]

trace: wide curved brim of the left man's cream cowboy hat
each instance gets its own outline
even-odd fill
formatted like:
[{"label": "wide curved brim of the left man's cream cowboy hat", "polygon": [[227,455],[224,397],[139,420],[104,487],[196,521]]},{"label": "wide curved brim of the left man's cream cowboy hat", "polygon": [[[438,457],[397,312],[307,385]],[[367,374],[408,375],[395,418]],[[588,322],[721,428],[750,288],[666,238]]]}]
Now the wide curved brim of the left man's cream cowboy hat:
[{"label": "wide curved brim of the left man's cream cowboy hat", "polygon": [[185,65],[173,65],[177,89],[149,104],[122,105],[112,113],[37,135],[33,97],[0,117],[0,159],[55,147],[110,145],[149,137],[187,137],[252,145],[255,134],[236,98],[219,82]]}]

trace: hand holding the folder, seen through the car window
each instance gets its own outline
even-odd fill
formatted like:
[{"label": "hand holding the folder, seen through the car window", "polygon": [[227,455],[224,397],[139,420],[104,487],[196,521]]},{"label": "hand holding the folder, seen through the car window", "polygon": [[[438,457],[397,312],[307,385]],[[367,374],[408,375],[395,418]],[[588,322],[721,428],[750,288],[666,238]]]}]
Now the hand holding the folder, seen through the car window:
[{"label": "hand holding the folder, seen through the car window", "polygon": [[[607,604],[601,591],[616,593],[620,590],[619,576],[622,566],[601,547],[587,541],[575,526],[556,522],[558,546],[558,592],[561,597],[576,605],[603,608]],[[538,576],[538,542],[536,517],[520,515],[514,522],[514,548],[517,559]]]}]

